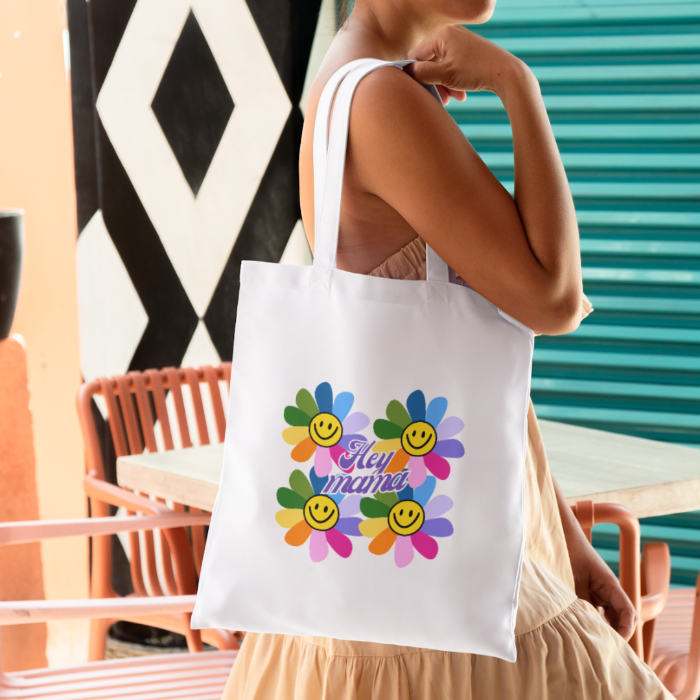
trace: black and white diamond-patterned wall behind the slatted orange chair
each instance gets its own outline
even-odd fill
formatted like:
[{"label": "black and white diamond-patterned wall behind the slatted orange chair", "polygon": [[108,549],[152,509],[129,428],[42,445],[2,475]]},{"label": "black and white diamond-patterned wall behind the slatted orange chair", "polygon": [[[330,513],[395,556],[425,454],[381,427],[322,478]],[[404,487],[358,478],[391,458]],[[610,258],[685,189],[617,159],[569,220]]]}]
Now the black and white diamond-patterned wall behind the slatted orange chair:
[{"label": "black and white diamond-patterned wall behind the slatted orange chair", "polygon": [[68,0],[85,379],[228,360],[240,261],[299,233],[321,0]]}]

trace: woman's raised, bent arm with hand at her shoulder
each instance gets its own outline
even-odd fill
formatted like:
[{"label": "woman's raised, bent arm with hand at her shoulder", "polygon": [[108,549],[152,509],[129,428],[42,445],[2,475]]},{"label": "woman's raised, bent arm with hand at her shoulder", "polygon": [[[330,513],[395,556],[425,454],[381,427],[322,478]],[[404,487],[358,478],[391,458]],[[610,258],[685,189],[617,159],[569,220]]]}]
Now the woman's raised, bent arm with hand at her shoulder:
[{"label": "woman's raised, bent arm with hand at her shoulder", "polygon": [[578,228],[536,79],[462,27],[440,30],[409,56],[421,59],[411,69],[419,81],[501,97],[513,129],[515,199],[437,101],[393,68],[357,90],[348,151],[357,182],[501,309],[538,332],[573,330],[582,303]]}]

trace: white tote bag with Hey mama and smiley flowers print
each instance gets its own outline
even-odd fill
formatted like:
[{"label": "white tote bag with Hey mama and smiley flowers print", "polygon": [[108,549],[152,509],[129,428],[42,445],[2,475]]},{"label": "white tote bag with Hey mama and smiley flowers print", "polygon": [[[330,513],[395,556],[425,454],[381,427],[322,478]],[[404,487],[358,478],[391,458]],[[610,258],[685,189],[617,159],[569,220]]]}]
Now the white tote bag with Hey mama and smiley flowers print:
[{"label": "white tote bag with Hey mama and smiley flowers print", "polygon": [[430,248],[426,281],[336,269],[354,90],[407,63],[323,91],[313,266],[242,264],[192,626],[514,661],[533,333]]}]

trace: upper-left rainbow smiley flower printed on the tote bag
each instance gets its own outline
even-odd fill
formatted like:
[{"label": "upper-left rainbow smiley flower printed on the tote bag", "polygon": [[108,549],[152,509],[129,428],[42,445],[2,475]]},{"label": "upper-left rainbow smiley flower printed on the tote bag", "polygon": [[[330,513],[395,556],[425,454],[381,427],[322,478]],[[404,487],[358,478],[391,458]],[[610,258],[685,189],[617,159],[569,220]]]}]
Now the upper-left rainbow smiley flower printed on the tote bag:
[{"label": "upper-left rainbow smiley flower printed on the tote bag", "polygon": [[369,425],[369,418],[364,413],[350,413],[355,397],[349,391],[334,399],[331,385],[323,382],[314,393],[315,398],[302,389],[297,394],[297,405],[284,409],[284,419],[291,427],[282,431],[282,437],[295,446],[293,460],[306,462],[313,455],[316,474],[324,477],[347,451],[351,440],[364,440],[356,433]]}]

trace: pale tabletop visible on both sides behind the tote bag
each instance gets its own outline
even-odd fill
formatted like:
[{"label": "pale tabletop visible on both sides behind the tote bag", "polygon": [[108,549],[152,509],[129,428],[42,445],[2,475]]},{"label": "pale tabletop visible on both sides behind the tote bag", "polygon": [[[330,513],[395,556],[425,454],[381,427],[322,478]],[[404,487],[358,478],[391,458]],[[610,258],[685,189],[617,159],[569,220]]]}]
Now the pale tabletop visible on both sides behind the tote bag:
[{"label": "pale tabletop visible on both sides behind the tote bag", "polygon": [[[552,473],[570,504],[619,503],[637,517],[700,510],[700,450],[539,421]],[[120,457],[117,481],[212,510],[223,445]]]}]

